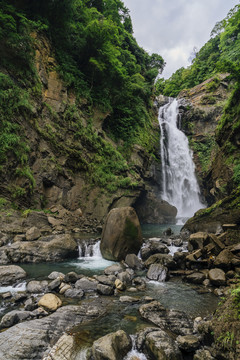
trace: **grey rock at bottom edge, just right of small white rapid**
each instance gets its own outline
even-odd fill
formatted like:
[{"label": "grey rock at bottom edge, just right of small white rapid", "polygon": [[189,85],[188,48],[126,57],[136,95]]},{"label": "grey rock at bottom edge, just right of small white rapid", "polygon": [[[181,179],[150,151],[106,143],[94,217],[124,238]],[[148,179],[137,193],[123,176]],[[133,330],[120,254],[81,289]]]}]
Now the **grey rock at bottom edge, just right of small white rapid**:
[{"label": "grey rock at bottom edge, just right of small white rapid", "polygon": [[153,359],[182,360],[182,354],[176,342],[165,331],[160,329],[147,333],[144,349]]}]

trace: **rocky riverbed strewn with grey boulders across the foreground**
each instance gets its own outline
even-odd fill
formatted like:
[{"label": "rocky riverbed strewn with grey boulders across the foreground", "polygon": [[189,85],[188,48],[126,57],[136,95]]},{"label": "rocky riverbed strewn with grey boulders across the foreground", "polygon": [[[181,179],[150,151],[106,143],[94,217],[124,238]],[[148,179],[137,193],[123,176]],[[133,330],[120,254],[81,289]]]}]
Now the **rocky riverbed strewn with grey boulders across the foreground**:
[{"label": "rocky riverbed strewn with grey boulders across the foreground", "polygon": [[[193,284],[191,286],[199,293],[226,295],[228,286],[237,281],[235,275],[240,262],[239,246],[228,245],[224,241],[226,233],[176,236],[169,230],[161,238],[147,239],[140,257],[128,254],[124,261],[91,276],[81,271],[55,271],[36,280],[28,278],[21,267],[24,265],[2,265],[0,284],[8,288],[0,295],[5,308],[0,323],[1,358],[95,360],[146,356],[147,359],[218,359],[216,347],[211,346],[214,345],[211,318],[191,316],[186,311],[187,298],[181,310],[169,308],[167,304],[163,306],[154,298],[154,292],[149,296],[146,289],[149,282],[162,284],[182,279]],[[9,234],[7,236],[10,238]],[[73,234],[46,236],[45,243],[63,236],[71,238],[77,245]],[[25,238],[19,243],[22,246],[31,241],[37,244],[42,240]],[[7,247],[10,249],[8,254],[11,253],[15,243],[3,245],[2,253]],[[16,259],[26,259],[22,255],[19,257],[18,249],[15,249]],[[57,259],[61,258],[59,254],[57,252]],[[62,254],[64,260],[66,253]],[[22,291],[16,291],[16,288],[13,291],[11,286],[24,280]],[[98,319],[105,319],[113,308],[115,312],[134,309],[134,315],[124,313],[126,322],[140,319],[134,329],[134,350],[131,350],[131,332],[121,329],[119,319],[119,327],[113,327],[113,332],[108,330],[106,334],[105,330],[91,338],[89,330],[83,331],[94,328]],[[228,359],[221,356],[221,359]]]}]

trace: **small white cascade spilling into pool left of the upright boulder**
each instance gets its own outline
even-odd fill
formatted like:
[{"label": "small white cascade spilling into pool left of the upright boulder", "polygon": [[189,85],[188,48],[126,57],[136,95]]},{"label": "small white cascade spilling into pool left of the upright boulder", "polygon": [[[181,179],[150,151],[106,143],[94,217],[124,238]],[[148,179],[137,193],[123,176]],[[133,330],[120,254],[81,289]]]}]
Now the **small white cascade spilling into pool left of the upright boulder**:
[{"label": "small white cascade spilling into pool left of the upright boulder", "polygon": [[79,262],[77,263],[83,269],[105,269],[107,266],[115,264],[113,261],[105,260],[100,251],[100,241],[95,244],[81,243],[79,249]]}]

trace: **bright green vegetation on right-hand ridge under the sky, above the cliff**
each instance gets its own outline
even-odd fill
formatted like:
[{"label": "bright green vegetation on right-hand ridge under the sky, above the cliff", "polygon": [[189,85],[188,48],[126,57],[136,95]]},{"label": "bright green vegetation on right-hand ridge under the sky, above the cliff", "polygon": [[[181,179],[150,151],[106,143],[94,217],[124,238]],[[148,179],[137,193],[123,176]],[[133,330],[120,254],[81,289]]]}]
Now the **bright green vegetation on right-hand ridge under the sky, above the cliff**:
[{"label": "bright green vegetation on right-hand ridge under the sky, above the cliff", "polygon": [[[180,68],[169,79],[159,79],[157,94],[177,96],[183,89],[190,89],[214,77],[207,85],[213,91],[218,83],[217,73],[228,71],[226,63],[239,64],[240,57],[240,5],[231,9],[225,19],[218,22],[211,33],[211,39],[199,50],[188,68]],[[238,72],[239,77],[239,72]]]}]

